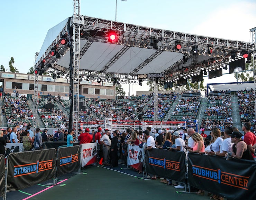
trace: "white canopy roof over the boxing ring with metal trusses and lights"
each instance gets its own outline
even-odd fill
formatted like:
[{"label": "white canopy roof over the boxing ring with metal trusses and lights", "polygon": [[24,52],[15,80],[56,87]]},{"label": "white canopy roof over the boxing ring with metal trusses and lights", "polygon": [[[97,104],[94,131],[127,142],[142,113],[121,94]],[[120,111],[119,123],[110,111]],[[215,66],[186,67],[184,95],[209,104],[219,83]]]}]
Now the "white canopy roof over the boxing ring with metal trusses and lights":
[{"label": "white canopy roof over the boxing ring with metal trusses and lights", "polygon": [[[73,0],[73,6],[73,16],[48,31],[36,54],[34,68],[39,72],[36,75],[47,71],[70,77],[72,126],[69,128],[75,128],[76,134],[79,81],[85,76],[110,79],[114,83],[120,83],[120,79],[150,78],[155,80],[157,91],[158,81],[176,81],[190,77],[192,72],[218,69],[245,53],[247,61],[251,55],[254,61],[255,40],[234,41],[82,16],[80,0]],[[255,36],[256,28],[251,31]],[[38,76],[35,76],[35,107],[37,88]],[[157,106],[155,92],[155,109]],[[154,118],[158,119],[157,112]]]}]

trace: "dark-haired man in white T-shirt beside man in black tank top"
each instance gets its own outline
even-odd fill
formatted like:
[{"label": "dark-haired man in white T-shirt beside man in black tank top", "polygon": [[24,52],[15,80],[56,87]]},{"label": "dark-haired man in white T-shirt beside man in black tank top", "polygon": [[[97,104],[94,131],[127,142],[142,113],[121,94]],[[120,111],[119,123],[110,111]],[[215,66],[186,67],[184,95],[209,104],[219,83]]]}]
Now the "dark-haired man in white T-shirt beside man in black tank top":
[{"label": "dark-haired man in white T-shirt beside man in black tank top", "polygon": [[218,152],[209,151],[208,154],[225,157],[225,155],[228,151],[232,151],[232,146],[234,144],[233,142],[231,142],[232,132],[233,132],[232,128],[227,127],[224,130],[225,140],[220,145],[220,151],[218,151]]}]

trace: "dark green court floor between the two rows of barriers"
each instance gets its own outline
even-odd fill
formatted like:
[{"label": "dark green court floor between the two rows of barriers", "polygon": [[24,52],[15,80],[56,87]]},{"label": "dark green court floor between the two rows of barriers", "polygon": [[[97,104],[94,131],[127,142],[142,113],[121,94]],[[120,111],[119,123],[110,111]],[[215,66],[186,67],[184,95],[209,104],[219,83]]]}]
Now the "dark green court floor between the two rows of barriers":
[{"label": "dark green court floor between the two rows of barriers", "polygon": [[[123,168],[121,168],[123,167]],[[7,193],[7,200],[25,199],[104,199],[104,200],[149,200],[149,199],[179,199],[179,200],[200,200],[209,199],[207,193],[204,196],[195,193],[181,194],[182,189],[166,186],[160,179],[142,179],[141,174],[137,174],[126,166],[115,168],[91,166],[81,170],[83,174],[66,174],[58,177],[58,182],[65,180],[61,184],[64,186],[54,186],[44,192],[33,196],[33,194],[46,189],[45,183]],[[140,176],[140,177],[139,177]],[[50,181],[47,181],[50,182]]]}]

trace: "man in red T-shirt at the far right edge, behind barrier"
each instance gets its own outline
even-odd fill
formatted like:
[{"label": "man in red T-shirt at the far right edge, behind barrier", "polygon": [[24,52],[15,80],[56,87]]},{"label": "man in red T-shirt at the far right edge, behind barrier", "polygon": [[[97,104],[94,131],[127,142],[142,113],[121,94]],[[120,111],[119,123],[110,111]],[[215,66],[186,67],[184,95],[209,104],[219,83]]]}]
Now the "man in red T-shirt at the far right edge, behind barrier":
[{"label": "man in red T-shirt at the far right edge, behind barrier", "polygon": [[245,132],[244,141],[249,148],[249,151],[252,153],[254,160],[256,161],[256,156],[254,156],[253,145],[256,143],[256,136],[252,132],[250,132],[250,128],[252,127],[250,122],[245,122],[243,124],[242,130]]}]

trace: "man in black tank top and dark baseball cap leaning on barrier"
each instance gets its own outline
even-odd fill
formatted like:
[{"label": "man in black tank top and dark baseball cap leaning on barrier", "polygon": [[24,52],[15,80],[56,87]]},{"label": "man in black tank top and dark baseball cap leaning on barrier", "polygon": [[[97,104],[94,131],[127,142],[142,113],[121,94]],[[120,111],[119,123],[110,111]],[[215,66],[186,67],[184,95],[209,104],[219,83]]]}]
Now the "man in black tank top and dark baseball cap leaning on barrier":
[{"label": "man in black tank top and dark baseball cap leaning on barrier", "polygon": [[246,159],[246,160],[254,160],[252,154],[249,151],[246,143],[241,139],[243,136],[239,131],[233,131],[231,136],[231,142],[234,142],[232,146],[232,154],[231,156],[237,159]]}]

